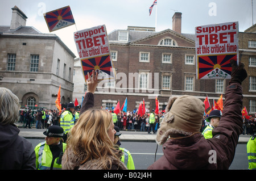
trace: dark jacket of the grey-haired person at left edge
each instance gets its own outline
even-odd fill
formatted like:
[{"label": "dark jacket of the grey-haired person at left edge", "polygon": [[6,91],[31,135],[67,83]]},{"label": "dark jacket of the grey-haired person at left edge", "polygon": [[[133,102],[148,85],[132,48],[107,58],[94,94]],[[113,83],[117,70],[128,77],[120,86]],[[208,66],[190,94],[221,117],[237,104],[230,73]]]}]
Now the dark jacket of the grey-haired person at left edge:
[{"label": "dark jacket of the grey-haired person at left edge", "polygon": [[36,169],[31,142],[18,134],[15,125],[0,124],[0,170]]}]

